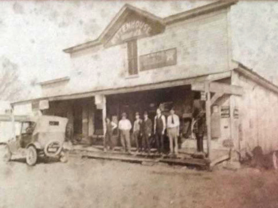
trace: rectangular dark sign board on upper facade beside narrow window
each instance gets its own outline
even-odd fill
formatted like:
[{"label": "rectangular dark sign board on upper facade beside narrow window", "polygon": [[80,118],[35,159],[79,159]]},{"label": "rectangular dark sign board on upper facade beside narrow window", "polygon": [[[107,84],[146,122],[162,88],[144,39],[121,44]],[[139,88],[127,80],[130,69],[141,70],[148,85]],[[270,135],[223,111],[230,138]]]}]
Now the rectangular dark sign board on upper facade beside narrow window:
[{"label": "rectangular dark sign board on upper facade beside narrow window", "polygon": [[139,57],[140,71],[176,64],[176,48],[159,51]]}]

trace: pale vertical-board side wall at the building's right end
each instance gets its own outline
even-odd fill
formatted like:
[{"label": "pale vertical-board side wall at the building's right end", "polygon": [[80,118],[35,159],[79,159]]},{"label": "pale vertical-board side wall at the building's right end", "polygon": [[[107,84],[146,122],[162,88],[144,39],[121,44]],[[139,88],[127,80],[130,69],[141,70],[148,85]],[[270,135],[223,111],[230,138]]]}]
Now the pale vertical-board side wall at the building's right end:
[{"label": "pale vertical-board side wall at the building's right end", "polygon": [[[252,150],[261,146],[264,153],[278,149],[278,94],[258,85],[239,72],[234,72],[234,82],[244,89],[242,97],[236,97],[240,110],[241,149]],[[234,84],[235,84],[234,83]]]}]

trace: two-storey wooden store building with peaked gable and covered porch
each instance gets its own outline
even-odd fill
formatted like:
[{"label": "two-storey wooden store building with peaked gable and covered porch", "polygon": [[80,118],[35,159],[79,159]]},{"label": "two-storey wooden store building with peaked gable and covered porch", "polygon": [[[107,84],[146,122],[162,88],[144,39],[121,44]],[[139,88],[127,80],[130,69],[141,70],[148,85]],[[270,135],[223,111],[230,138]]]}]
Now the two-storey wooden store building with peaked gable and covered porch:
[{"label": "two-storey wooden store building with peaked gable and covered porch", "polygon": [[[217,1],[160,18],[126,4],[99,37],[64,50],[72,62],[68,77],[39,83],[41,97],[12,103],[68,117],[74,134],[86,140],[104,132],[106,116],[174,106],[181,121],[182,148],[191,139],[194,95],[204,100],[208,133],[204,146],[244,151],[278,149],[278,87],[233,61],[230,9]],[[141,116],[142,118],[142,116]],[[207,145],[208,144],[208,145]]]}]

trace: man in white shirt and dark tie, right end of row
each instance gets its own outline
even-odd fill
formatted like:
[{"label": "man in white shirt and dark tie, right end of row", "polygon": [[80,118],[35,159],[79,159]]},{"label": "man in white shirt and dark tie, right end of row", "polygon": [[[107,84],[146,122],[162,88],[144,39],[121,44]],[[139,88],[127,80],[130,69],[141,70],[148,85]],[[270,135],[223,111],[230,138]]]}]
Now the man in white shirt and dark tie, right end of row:
[{"label": "man in white shirt and dark tie, right end of row", "polygon": [[[179,118],[174,114],[174,108],[170,111],[170,116],[167,118],[167,134],[170,140],[170,154],[177,154],[178,144],[177,137],[179,136]],[[173,147],[174,140],[174,147]]]}]

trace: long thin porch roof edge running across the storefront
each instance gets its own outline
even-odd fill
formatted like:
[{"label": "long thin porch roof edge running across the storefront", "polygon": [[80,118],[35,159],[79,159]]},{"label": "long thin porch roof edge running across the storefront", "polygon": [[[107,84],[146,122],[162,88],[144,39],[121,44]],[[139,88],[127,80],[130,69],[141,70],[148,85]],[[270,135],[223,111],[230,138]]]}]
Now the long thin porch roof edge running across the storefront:
[{"label": "long thin porch roof edge running across the storefront", "polygon": [[98,90],[91,90],[91,91],[81,91],[77,93],[69,93],[69,94],[62,94],[62,95],[55,95],[55,96],[47,96],[47,97],[38,97],[35,99],[29,100],[20,100],[12,102],[11,105],[18,105],[18,104],[26,104],[32,101],[39,101],[39,100],[69,100],[69,99],[80,99],[80,98],[87,98],[92,97],[97,94],[119,94],[119,93],[128,93],[128,92],[136,92],[136,91],[144,91],[150,89],[162,89],[162,88],[170,88],[170,87],[177,87],[182,85],[192,85],[194,83],[202,83],[205,81],[215,81],[219,79],[225,79],[231,77],[231,71],[223,71],[217,73],[210,73],[201,76],[183,78],[183,79],[176,79],[176,80],[169,80],[163,81],[158,83],[150,83],[144,85],[137,85],[132,87],[121,87],[121,88],[109,88],[109,89],[98,89]]}]

